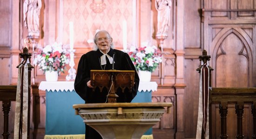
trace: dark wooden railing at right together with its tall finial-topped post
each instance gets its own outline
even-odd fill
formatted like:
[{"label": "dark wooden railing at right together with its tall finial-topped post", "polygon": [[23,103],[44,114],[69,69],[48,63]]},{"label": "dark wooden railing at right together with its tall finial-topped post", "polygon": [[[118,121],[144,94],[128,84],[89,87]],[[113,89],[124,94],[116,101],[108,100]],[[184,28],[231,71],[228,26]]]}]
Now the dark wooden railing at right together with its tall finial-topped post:
[{"label": "dark wooden railing at right together with its tall finial-topped post", "polygon": [[[218,119],[213,119],[213,115],[215,114],[215,110],[212,109],[215,104],[219,104],[219,113],[220,113],[220,122],[221,129],[219,137],[221,139],[227,139],[227,129],[230,131],[235,131],[234,127],[230,127],[227,125],[227,114],[228,114],[228,104],[235,104],[235,113],[236,113],[236,122],[237,122],[237,133],[236,139],[243,139],[243,113],[244,113],[244,105],[251,105],[251,114],[252,114],[252,127],[251,135],[248,135],[249,139],[256,139],[256,88],[212,88],[211,85],[211,71],[213,70],[209,65],[208,61],[210,60],[210,56],[207,56],[207,51],[202,51],[202,56],[199,56],[200,61],[203,63],[196,70],[202,74],[201,68],[203,65],[207,65],[209,69],[209,81],[203,80],[203,88],[209,88],[209,139],[215,139],[218,135],[216,135],[216,130],[219,127],[214,125]],[[209,82],[209,86],[208,86]],[[207,89],[208,90],[208,89]],[[205,90],[204,90],[205,91]],[[208,92],[208,91],[205,91]],[[201,104],[199,104],[201,105]],[[230,108],[231,109],[231,108]],[[214,112],[214,114],[212,114]],[[231,112],[232,114],[232,112]],[[235,116],[235,115],[234,115]],[[214,117],[216,118],[216,117]],[[216,120],[216,121],[213,121]],[[250,123],[249,123],[250,124]],[[215,129],[213,129],[215,128]],[[214,135],[213,135],[214,134]],[[250,138],[250,137],[251,138]],[[235,138],[235,137],[232,137]]]}]

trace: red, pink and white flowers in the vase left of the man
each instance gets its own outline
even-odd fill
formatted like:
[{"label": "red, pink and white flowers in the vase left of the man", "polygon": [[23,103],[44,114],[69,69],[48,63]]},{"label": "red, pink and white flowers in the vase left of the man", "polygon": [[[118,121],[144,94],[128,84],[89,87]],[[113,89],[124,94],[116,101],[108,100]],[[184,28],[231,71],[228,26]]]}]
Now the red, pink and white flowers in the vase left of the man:
[{"label": "red, pink and white flowers in the vase left of the man", "polygon": [[60,72],[64,73],[69,59],[69,53],[65,48],[62,48],[62,44],[54,43],[37,49],[34,64],[38,65],[39,69],[43,70],[44,73],[46,71],[57,71],[60,74]]}]

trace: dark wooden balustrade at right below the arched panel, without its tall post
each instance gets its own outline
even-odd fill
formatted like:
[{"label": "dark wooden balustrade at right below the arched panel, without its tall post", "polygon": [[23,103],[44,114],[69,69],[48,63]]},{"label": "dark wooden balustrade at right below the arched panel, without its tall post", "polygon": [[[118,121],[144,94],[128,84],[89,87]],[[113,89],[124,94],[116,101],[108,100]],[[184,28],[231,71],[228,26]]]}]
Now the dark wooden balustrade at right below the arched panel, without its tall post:
[{"label": "dark wooden balustrade at right below the arched panel, without its tall post", "polygon": [[[253,116],[252,139],[256,139],[256,88],[209,88],[209,127],[211,127],[211,106],[219,104],[221,118],[221,139],[227,139],[228,103],[236,104],[237,134],[236,139],[243,139],[243,109],[244,104],[251,104]],[[211,136],[211,128],[210,128]]]}]

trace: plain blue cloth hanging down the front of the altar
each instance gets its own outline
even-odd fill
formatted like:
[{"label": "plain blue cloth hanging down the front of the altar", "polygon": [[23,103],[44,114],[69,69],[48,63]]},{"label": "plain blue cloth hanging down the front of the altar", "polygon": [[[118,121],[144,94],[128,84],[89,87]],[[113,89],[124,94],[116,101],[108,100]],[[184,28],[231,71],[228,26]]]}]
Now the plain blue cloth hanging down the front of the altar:
[{"label": "plain blue cloth hanging down the front of the altar", "polygon": [[[132,102],[151,102],[152,91],[137,92]],[[85,134],[85,124],[74,114],[73,104],[83,104],[84,100],[73,90],[46,91],[46,135]],[[144,135],[152,134],[150,128]]]}]

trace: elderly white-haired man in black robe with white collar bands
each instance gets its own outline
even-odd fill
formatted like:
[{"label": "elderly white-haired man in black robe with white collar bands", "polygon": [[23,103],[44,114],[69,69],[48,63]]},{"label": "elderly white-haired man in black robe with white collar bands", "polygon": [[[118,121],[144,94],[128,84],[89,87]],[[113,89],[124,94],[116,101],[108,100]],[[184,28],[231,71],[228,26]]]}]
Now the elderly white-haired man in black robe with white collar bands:
[{"label": "elderly white-haired man in black robe with white collar bands", "polygon": [[[137,94],[139,87],[139,76],[129,57],[123,51],[113,49],[113,39],[107,31],[101,30],[94,36],[95,50],[84,54],[78,64],[77,75],[74,82],[74,89],[78,95],[81,96],[86,103],[104,103],[107,102],[108,91],[106,88],[100,92],[100,89],[92,91],[90,81],[90,70],[109,70],[112,69],[113,55],[115,54],[115,69],[117,70],[134,70],[135,71],[135,85],[132,88],[132,93],[125,90],[117,91],[117,102],[131,102]],[[102,139],[101,135],[97,133],[92,127],[86,126],[86,139]]]}]

